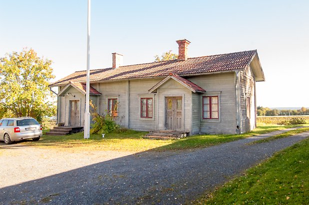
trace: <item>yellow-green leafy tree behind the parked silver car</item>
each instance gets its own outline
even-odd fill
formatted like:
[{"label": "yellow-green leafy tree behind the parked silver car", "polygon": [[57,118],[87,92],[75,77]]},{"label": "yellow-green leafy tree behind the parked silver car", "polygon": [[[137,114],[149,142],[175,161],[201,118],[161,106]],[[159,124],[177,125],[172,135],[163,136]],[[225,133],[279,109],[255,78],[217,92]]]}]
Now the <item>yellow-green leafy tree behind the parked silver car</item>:
[{"label": "yellow-green leafy tree behind the parked silver car", "polygon": [[54,78],[51,61],[24,48],[0,58],[0,117],[30,116],[39,122],[55,115],[48,82]]}]

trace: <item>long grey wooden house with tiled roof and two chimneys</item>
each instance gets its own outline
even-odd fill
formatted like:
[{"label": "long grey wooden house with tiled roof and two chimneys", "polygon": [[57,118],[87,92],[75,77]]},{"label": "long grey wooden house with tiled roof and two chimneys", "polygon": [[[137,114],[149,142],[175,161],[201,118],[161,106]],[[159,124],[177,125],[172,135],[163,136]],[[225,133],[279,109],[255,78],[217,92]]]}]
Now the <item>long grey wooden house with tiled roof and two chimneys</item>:
[{"label": "long grey wooden house with tiled roof and two chimneys", "polygon": [[[90,100],[99,114],[126,128],[192,134],[244,133],[256,127],[256,82],[265,81],[256,50],[188,58],[178,40],[177,60],[90,70]],[[57,123],[83,127],[86,71],[58,87]]]}]

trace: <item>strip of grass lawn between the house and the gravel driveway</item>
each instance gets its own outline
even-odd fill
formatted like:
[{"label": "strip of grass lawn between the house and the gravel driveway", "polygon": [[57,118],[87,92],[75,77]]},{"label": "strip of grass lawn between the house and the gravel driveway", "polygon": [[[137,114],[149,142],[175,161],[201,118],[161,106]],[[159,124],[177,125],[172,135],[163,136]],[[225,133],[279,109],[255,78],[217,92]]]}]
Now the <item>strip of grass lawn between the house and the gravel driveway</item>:
[{"label": "strip of grass lawn between the house and the gravel driveway", "polygon": [[66,136],[43,135],[37,141],[23,142],[27,146],[64,149],[66,151],[113,150],[128,152],[184,150],[209,147],[220,143],[231,142],[255,135],[291,126],[261,125],[254,131],[241,135],[195,135],[180,140],[148,140],[142,139],[147,132],[128,130],[122,133],[108,133],[105,138],[101,135],[91,135],[90,139],[83,139],[83,133]]}]

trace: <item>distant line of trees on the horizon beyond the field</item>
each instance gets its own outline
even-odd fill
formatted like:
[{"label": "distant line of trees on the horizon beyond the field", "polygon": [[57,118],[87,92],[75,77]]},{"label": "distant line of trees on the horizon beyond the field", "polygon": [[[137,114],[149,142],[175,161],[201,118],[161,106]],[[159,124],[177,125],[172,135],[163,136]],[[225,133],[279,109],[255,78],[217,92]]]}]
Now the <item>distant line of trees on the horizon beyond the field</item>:
[{"label": "distant line of trees on the horizon beyond the field", "polygon": [[278,110],[268,107],[257,107],[258,116],[289,116],[289,115],[309,115],[309,109],[302,107],[299,110]]}]

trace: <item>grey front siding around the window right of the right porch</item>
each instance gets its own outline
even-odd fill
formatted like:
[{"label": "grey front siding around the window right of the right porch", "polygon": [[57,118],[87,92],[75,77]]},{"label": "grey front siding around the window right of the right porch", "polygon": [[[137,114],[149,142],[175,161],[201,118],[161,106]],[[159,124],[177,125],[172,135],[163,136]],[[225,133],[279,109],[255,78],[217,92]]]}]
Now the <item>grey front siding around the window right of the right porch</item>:
[{"label": "grey front siding around the window right of the right porch", "polygon": [[[235,94],[235,73],[220,73],[190,77],[188,80],[199,85],[206,90],[206,93],[221,92],[220,94],[220,119],[207,120],[202,115],[201,100],[201,133],[220,134],[236,132],[236,94]],[[198,101],[193,103],[199,103]]]}]

